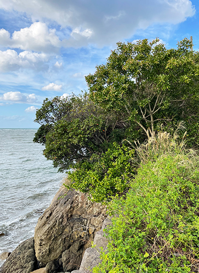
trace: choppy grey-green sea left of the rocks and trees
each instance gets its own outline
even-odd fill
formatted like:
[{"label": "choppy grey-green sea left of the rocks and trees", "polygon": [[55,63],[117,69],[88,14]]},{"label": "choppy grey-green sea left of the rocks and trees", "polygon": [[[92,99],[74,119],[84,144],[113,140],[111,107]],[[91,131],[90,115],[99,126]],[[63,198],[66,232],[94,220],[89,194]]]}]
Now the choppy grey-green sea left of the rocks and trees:
[{"label": "choppy grey-green sea left of the rocks and trees", "polygon": [[[35,129],[0,129],[0,254],[34,236],[39,216],[64,178],[48,161]],[[2,262],[0,261],[0,265]]]}]

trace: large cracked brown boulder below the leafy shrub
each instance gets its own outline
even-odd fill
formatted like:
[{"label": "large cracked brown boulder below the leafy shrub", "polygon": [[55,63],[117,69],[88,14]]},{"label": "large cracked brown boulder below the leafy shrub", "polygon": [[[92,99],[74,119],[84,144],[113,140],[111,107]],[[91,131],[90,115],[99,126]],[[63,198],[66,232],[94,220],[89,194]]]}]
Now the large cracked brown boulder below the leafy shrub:
[{"label": "large cracked brown boulder below the leafy shrub", "polygon": [[86,194],[60,188],[35,228],[35,253],[44,267],[58,262],[60,271],[79,269],[85,250],[101,229],[106,207]]}]

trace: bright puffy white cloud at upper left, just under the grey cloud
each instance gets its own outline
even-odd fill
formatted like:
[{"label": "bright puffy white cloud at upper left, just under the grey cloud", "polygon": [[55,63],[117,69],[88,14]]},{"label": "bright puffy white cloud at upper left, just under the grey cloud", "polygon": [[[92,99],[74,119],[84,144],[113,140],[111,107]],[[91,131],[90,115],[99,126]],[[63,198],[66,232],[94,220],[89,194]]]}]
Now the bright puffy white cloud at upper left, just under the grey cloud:
[{"label": "bright puffy white cloud at upper left, just under the grey cloud", "polygon": [[30,27],[14,31],[10,38],[10,33],[2,28],[0,44],[28,51],[54,52],[61,46],[55,32],[55,29],[48,29],[45,23],[34,22]]}]

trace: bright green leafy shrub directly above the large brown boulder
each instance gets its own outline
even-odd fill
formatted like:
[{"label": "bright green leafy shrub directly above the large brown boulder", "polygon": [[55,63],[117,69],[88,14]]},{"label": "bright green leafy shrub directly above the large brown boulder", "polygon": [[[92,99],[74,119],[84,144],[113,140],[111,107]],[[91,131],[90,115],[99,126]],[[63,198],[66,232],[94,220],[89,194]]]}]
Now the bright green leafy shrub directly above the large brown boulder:
[{"label": "bright green leafy shrub directly above the large brown boulder", "polygon": [[76,164],[76,171],[69,172],[72,187],[88,192],[96,202],[110,200],[114,195],[123,193],[133,173],[130,164],[133,153],[133,150],[114,142],[106,152],[93,154],[89,161]]}]

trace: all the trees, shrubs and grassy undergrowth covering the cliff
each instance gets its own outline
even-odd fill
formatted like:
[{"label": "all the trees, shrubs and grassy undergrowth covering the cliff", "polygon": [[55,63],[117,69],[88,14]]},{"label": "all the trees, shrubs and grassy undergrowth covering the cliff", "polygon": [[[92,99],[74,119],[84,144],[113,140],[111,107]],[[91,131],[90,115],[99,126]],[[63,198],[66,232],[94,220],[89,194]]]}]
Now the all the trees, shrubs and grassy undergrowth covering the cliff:
[{"label": "all the trees, shrubs and grassy undergrowth covering the cliff", "polygon": [[198,272],[199,157],[185,139],[199,145],[199,53],[190,48],[118,43],[86,77],[88,93],[37,110],[46,158],[117,215],[96,273]]}]

